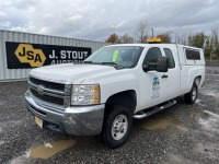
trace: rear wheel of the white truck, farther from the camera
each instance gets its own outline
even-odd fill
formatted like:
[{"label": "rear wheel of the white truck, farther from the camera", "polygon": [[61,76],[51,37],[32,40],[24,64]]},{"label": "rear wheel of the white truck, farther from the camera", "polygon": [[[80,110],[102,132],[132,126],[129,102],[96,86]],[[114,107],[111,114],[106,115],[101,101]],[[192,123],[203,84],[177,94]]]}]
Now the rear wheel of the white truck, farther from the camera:
[{"label": "rear wheel of the white truck, farther from the camera", "polygon": [[184,95],[185,103],[194,104],[197,98],[198,87],[197,84],[194,82],[191,91]]}]

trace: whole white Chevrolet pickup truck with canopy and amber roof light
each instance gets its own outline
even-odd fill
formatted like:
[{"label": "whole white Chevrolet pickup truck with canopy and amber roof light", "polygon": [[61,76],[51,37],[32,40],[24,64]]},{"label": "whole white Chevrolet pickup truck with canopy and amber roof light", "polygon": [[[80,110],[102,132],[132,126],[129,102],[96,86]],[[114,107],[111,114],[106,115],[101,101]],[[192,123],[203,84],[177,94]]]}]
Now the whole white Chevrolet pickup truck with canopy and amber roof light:
[{"label": "whole white Chevrolet pickup truck with canopy and amber roof light", "polygon": [[199,48],[176,44],[126,44],[101,48],[83,63],[33,69],[25,93],[41,128],[74,136],[101,134],[110,148],[128,138],[140,119],[197,97],[205,80]]}]

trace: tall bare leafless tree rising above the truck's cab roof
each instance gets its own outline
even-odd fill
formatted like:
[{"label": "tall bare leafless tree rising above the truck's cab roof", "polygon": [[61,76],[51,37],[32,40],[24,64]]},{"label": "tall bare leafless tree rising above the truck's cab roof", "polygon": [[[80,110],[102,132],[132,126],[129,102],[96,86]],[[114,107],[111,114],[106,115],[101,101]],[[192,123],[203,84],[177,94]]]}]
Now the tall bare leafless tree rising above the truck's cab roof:
[{"label": "tall bare leafless tree rising above the truck's cab roof", "polygon": [[139,22],[139,24],[137,25],[136,30],[134,31],[134,34],[137,38],[137,42],[140,43],[146,43],[147,38],[148,38],[148,34],[147,34],[147,30],[148,30],[148,24],[147,22]]}]

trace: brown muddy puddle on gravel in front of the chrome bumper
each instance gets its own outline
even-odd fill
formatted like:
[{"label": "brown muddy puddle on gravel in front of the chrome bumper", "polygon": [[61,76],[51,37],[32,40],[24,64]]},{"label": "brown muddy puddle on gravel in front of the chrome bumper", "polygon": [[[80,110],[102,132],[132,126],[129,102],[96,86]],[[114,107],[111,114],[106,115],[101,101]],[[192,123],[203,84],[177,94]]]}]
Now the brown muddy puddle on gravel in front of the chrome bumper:
[{"label": "brown muddy puddle on gravel in front of the chrome bumper", "polygon": [[57,142],[45,143],[43,145],[33,148],[30,151],[30,157],[48,159],[66,149],[73,147],[74,144],[76,140],[60,140]]}]

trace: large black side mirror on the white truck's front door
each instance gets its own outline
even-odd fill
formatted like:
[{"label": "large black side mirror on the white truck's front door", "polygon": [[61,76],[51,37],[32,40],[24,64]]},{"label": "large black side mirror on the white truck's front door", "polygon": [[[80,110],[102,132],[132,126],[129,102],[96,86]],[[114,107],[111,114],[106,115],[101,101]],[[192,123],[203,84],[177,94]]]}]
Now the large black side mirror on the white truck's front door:
[{"label": "large black side mirror on the white truck's front door", "polygon": [[148,65],[143,63],[142,69],[145,72],[148,71],[158,71],[158,72],[168,72],[168,57],[158,57],[157,62],[149,62]]}]

